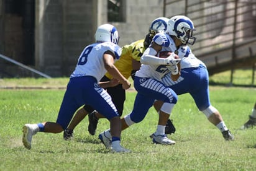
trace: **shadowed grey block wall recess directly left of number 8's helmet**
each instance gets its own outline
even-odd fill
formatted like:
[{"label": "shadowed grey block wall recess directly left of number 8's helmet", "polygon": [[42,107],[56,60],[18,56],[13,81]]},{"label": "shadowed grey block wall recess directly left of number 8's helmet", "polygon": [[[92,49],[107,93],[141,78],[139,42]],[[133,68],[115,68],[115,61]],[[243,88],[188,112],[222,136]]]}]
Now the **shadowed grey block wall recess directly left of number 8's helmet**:
[{"label": "shadowed grey block wall recess directly left of number 8's helmet", "polygon": [[68,0],[63,9],[63,74],[69,76],[81,51],[94,40],[93,3]]}]

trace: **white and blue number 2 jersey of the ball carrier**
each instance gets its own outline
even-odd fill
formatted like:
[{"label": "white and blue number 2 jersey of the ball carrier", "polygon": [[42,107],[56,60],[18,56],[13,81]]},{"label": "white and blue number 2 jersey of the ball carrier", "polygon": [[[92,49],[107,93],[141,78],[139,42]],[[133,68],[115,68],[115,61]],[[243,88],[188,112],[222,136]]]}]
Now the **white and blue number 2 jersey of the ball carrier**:
[{"label": "white and blue number 2 jersey of the ball carrier", "polygon": [[[161,51],[175,51],[176,46],[173,42],[173,39],[167,33],[157,33],[155,37],[153,37],[153,42],[158,45],[162,45],[163,48]],[[157,54],[149,54],[153,56],[157,56]],[[157,79],[160,81],[165,74],[169,74],[170,71],[166,68],[165,65],[149,65],[142,64],[140,70],[135,73],[135,76],[138,77],[150,77],[153,79]]]}]

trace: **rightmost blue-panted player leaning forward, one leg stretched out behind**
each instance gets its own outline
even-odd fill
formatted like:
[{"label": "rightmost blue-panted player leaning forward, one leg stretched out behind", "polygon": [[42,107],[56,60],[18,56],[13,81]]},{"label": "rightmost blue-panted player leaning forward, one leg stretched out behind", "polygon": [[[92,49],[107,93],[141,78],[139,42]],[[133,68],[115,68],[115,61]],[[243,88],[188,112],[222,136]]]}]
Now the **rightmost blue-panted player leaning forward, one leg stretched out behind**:
[{"label": "rightmost blue-panted player leaning forward, one leg stretched out behind", "polygon": [[193,37],[193,30],[193,22],[183,15],[171,17],[168,22],[167,32],[176,42],[178,47],[176,53],[181,58],[181,76],[177,81],[165,76],[162,82],[173,89],[177,95],[189,93],[199,111],[203,112],[208,120],[219,128],[224,139],[233,140],[234,136],[227,129],[221,114],[211,105],[209,99],[209,74],[206,65],[194,56],[188,46],[188,44],[193,45],[196,40]]}]

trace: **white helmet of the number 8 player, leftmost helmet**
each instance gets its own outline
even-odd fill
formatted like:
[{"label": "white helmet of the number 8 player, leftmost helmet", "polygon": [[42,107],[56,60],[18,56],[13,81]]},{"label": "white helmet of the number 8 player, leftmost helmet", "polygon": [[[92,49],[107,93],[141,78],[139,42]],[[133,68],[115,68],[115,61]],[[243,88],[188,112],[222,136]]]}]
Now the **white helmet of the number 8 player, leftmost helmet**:
[{"label": "white helmet of the number 8 player, leftmost helmet", "polygon": [[112,42],[118,44],[119,37],[116,27],[111,24],[103,24],[98,27],[95,33],[96,42]]}]

